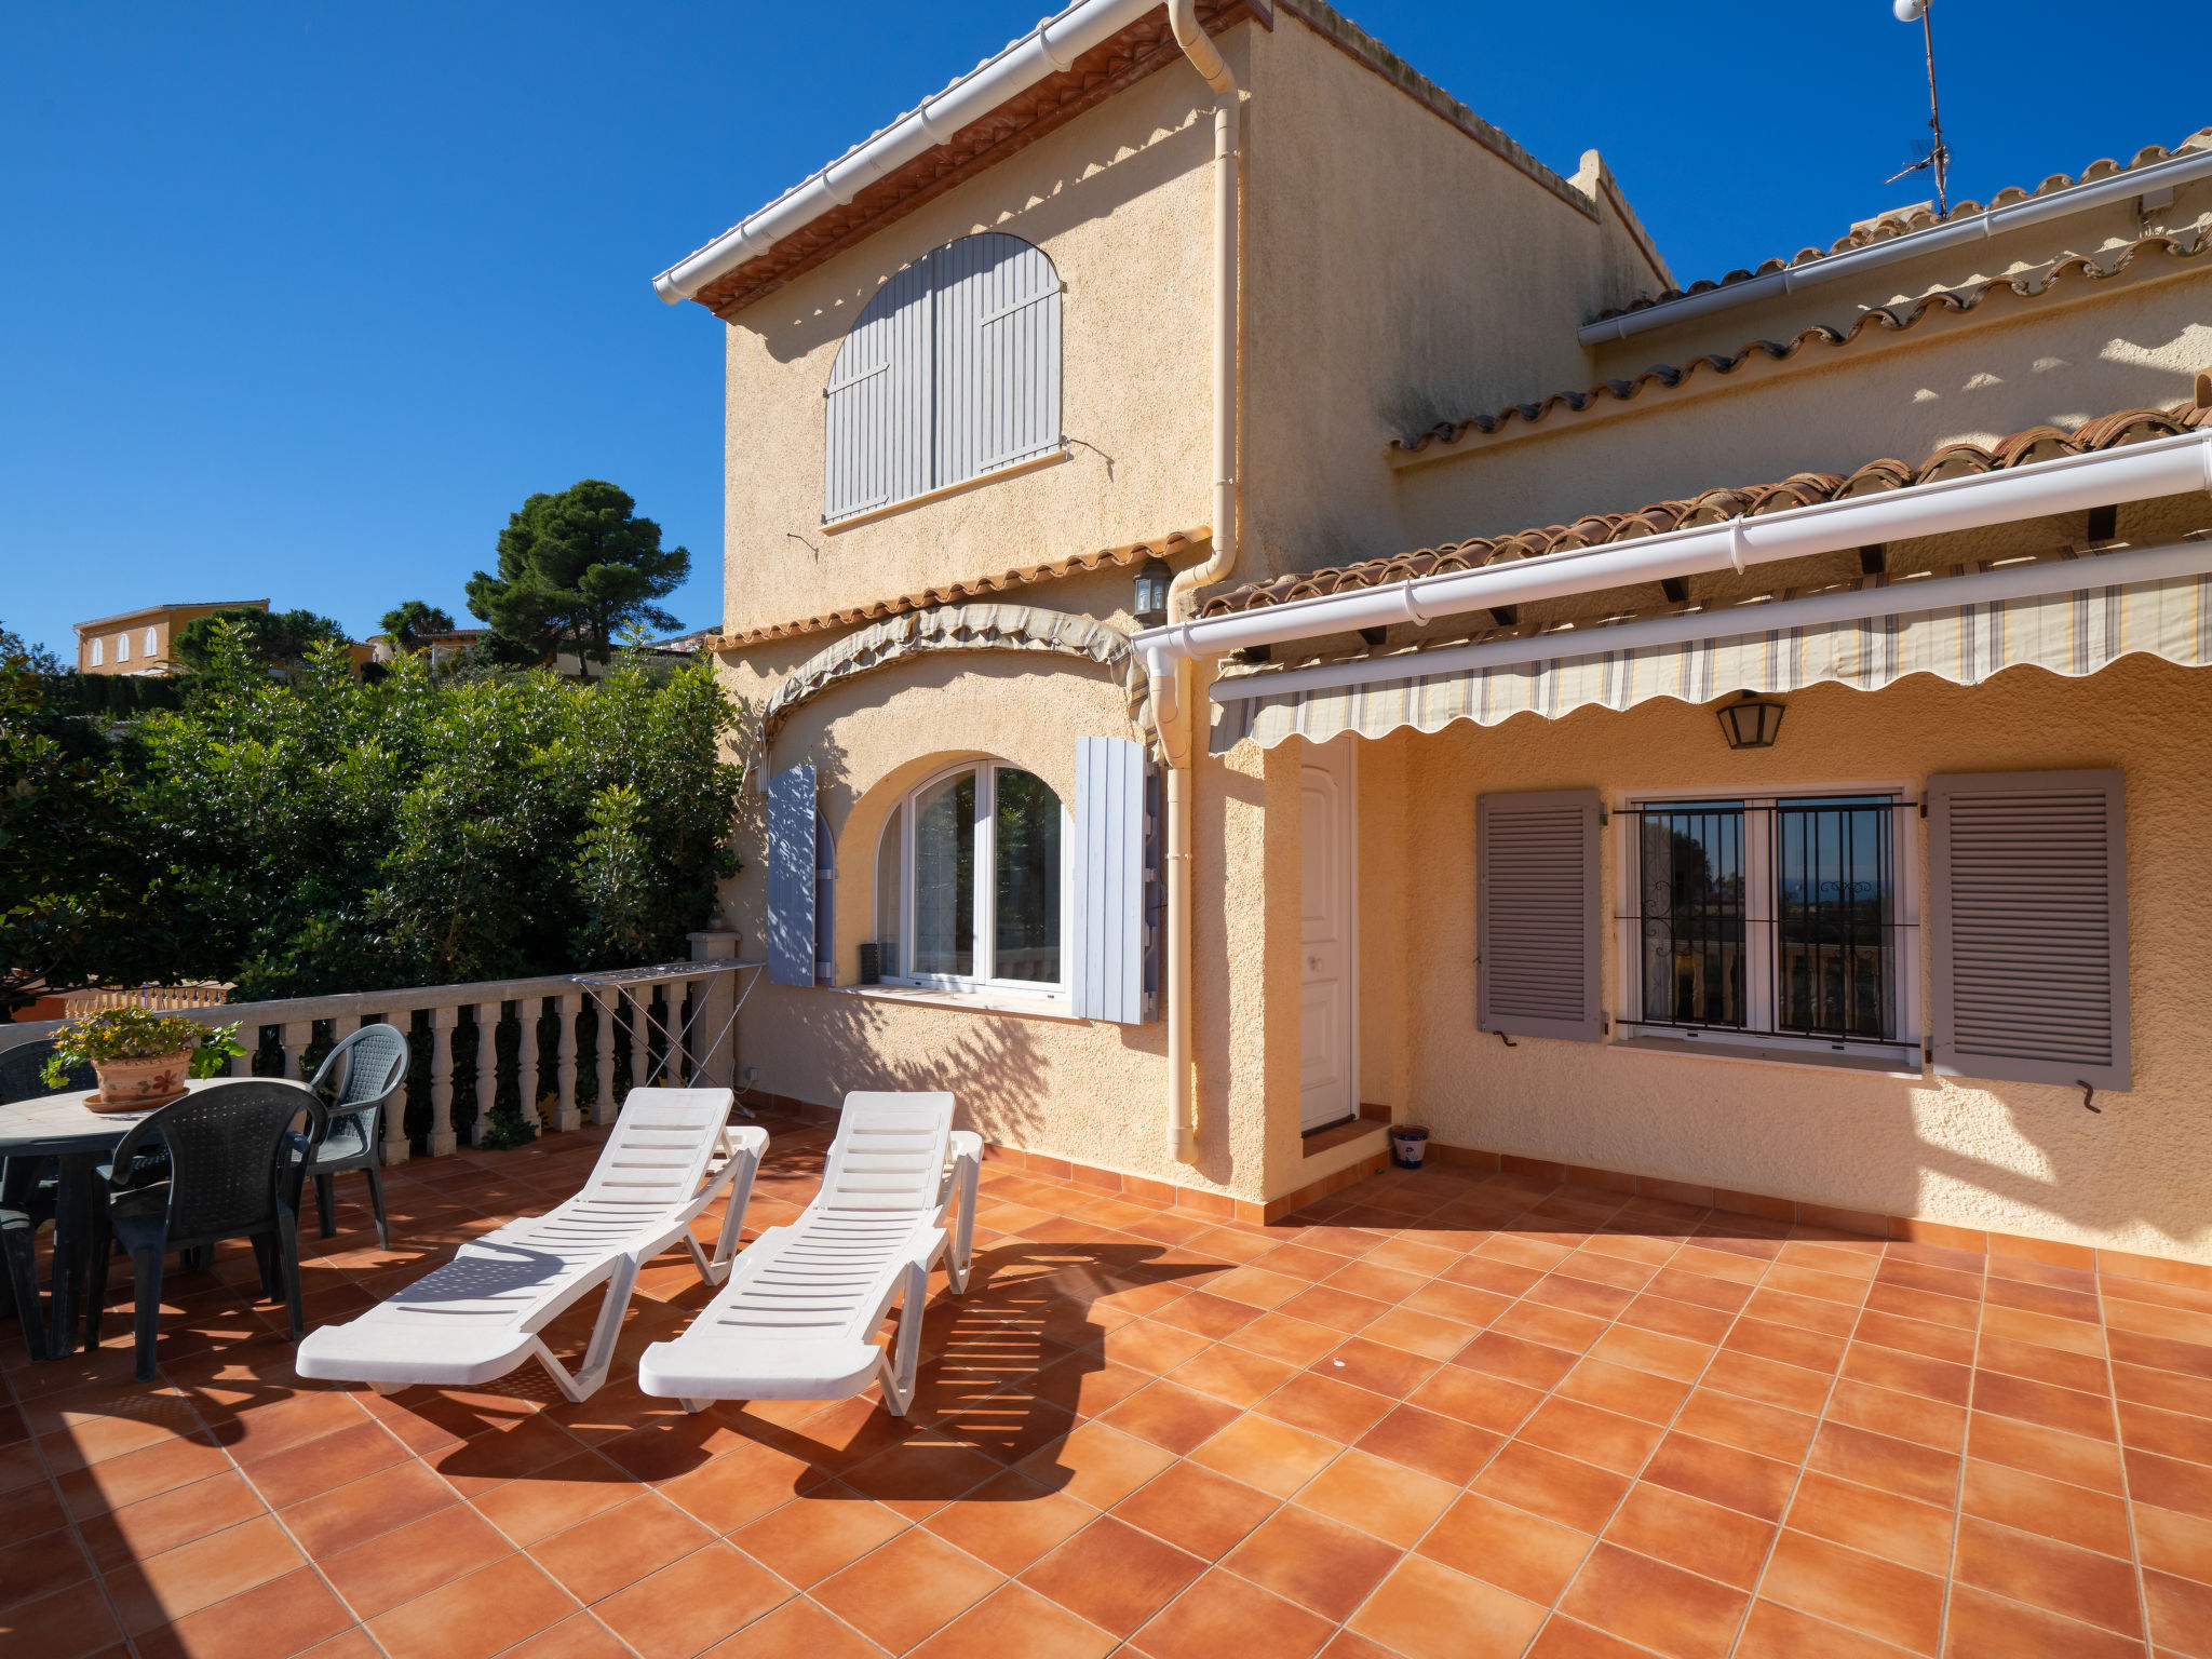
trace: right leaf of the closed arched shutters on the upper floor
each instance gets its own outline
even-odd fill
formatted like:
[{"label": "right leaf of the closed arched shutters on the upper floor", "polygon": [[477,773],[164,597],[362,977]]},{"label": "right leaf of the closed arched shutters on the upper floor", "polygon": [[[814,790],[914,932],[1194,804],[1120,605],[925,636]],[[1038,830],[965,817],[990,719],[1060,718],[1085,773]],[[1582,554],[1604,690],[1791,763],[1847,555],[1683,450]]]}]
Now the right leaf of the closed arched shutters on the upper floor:
[{"label": "right leaf of the closed arched shutters on the upper floor", "polygon": [[1060,272],[991,230],[931,254],[936,272],[936,484],[1060,447]]}]

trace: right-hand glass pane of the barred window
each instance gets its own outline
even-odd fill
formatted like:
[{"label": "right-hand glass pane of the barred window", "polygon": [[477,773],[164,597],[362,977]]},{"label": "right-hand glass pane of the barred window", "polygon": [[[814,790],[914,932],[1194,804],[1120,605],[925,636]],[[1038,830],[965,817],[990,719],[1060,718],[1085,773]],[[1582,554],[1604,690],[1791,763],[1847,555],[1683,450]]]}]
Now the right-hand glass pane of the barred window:
[{"label": "right-hand glass pane of the barred window", "polygon": [[1783,1031],[1889,1035],[1891,810],[1889,801],[1774,807],[1774,1022]]}]

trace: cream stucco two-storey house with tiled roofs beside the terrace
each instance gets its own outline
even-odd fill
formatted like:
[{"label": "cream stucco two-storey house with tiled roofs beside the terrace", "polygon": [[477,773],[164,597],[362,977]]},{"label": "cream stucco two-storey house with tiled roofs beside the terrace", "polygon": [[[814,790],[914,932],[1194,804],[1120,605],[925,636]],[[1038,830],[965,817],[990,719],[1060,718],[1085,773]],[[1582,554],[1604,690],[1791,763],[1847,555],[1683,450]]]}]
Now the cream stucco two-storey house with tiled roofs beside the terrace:
[{"label": "cream stucco two-storey house with tiled roofs beside the terrace", "polygon": [[1040,24],[657,281],[759,1091],[2201,1276],[2208,212],[2212,128],[1683,288],[1321,0]]}]

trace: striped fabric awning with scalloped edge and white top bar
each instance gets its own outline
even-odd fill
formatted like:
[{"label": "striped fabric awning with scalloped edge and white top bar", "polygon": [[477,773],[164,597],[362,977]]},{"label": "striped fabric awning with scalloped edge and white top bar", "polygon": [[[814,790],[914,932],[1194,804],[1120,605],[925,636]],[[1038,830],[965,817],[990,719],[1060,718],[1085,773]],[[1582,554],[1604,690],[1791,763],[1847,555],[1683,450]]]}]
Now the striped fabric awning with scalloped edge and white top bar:
[{"label": "striped fabric awning with scalloped edge and white top bar", "polygon": [[1880,690],[1907,675],[1975,686],[2024,664],[2081,677],[2130,653],[2212,664],[2212,542],[1867,577],[1809,597],[1234,675],[1212,688],[1221,710],[1210,748],[1829,681]]}]

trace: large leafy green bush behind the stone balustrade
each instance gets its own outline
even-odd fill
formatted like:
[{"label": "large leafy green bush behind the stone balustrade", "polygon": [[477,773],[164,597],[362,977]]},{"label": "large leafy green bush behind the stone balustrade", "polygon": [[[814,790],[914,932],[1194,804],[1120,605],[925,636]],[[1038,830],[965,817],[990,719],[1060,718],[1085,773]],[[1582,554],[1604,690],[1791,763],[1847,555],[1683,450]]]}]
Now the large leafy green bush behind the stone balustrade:
[{"label": "large leafy green bush behind the stone balustrade", "polygon": [[[737,714],[706,664],[655,684],[617,661],[573,686],[434,679],[400,657],[361,684],[325,641],[279,681],[246,628],[219,624],[186,706],[148,714],[126,757],[80,781],[122,843],[122,891],[86,905],[80,931],[106,949],[80,951],[66,982],[219,978],[261,1000],[677,958],[737,869],[741,772],[721,759]],[[60,765],[11,741],[0,732],[0,852],[11,761]],[[97,872],[46,863],[102,891]],[[159,927],[93,925],[124,909]],[[13,958],[7,933],[0,951]]]}]

